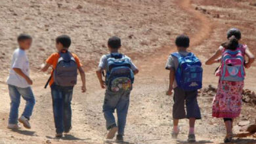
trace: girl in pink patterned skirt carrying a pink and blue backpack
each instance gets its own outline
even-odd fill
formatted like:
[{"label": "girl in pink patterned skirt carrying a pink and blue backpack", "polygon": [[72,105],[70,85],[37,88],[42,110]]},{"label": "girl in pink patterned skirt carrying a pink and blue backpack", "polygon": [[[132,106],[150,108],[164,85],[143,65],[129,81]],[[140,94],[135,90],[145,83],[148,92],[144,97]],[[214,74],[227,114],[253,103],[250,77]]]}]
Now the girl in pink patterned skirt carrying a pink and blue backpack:
[{"label": "girl in pink patterned skirt carrying a pink and blue backpack", "polygon": [[[224,143],[232,140],[234,118],[239,117],[242,107],[242,91],[244,88],[245,68],[251,67],[254,56],[246,45],[239,43],[239,29],[229,29],[228,41],[223,43],[205,64],[221,62],[217,75],[220,77],[217,94],[213,99],[213,117],[223,118],[226,126]],[[245,62],[245,56],[248,62]],[[221,58],[220,58],[221,57]]]}]

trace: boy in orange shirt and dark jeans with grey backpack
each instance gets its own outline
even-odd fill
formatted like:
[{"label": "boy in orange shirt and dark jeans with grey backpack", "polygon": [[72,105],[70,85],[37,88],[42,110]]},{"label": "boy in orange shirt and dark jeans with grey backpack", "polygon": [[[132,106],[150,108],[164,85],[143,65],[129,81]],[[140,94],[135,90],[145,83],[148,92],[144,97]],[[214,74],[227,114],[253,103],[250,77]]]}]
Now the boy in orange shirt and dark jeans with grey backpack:
[{"label": "boy in orange shirt and dark jeans with grey backpack", "polygon": [[82,92],[86,91],[85,72],[79,62],[79,58],[68,51],[71,39],[68,35],[60,35],[56,38],[56,49],[58,52],[51,54],[46,60],[42,71],[53,67],[51,73],[51,94],[53,98],[54,123],[56,137],[62,137],[62,133],[68,133],[72,129],[71,101],[74,85],[77,82],[77,69],[81,75],[83,86]]}]

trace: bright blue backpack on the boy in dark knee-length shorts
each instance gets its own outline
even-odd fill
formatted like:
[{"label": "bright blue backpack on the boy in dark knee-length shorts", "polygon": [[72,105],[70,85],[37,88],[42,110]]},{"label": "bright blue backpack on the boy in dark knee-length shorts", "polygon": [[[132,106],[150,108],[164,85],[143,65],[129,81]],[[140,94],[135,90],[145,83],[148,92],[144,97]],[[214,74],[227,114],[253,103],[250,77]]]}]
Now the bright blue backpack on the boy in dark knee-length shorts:
[{"label": "bright blue backpack on the boy in dark knee-length shorts", "polygon": [[185,91],[202,88],[203,68],[200,60],[192,52],[187,56],[174,52],[171,56],[175,56],[179,61],[175,72],[178,87]]}]

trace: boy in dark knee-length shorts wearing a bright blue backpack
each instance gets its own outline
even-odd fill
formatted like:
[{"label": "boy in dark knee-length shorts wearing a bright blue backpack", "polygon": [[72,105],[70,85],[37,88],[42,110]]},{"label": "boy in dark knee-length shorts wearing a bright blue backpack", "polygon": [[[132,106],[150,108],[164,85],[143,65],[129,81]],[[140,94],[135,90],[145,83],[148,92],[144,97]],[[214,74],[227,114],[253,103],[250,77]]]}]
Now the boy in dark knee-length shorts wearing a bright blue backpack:
[{"label": "boy in dark knee-length shorts wearing a bright blue backpack", "polygon": [[[190,44],[188,36],[179,35],[175,44],[178,51],[169,56],[165,66],[165,69],[170,71],[167,95],[171,96],[174,90],[172,137],[177,138],[179,134],[179,120],[188,118],[190,126],[188,142],[192,143],[196,141],[194,134],[196,119],[201,119],[197,96],[198,89],[202,88],[202,63],[192,52],[187,51]],[[186,101],[186,111],[184,101]]]}]

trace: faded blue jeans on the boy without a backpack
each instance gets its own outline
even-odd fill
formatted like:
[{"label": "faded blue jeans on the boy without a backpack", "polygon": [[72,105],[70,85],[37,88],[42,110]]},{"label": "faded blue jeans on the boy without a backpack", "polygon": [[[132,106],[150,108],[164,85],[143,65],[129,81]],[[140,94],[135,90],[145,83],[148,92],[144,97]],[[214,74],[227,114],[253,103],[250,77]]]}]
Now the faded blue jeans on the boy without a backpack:
[{"label": "faded blue jeans on the boy without a backpack", "polygon": [[19,88],[8,84],[9,95],[11,98],[11,109],[9,114],[9,124],[18,124],[18,107],[20,106],[20,96],[26,100],[26,106],[22,116],[30,119],[32,116],[33,106],[35,105],[35,97],[32,88]]}]

